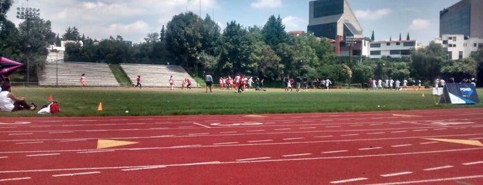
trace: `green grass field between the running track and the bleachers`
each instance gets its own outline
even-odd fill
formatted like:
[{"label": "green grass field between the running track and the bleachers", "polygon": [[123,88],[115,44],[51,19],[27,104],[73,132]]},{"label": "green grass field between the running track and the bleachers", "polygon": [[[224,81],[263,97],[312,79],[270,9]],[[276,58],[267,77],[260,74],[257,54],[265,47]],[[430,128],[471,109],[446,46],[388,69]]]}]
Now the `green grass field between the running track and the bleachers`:
[{"label": "green grass field between the running track and the bleachers", "polygon": [[[481,88],[477,90],[480,101],[482,91]],[[439,97],[431,95],[430,90],[310,89],[308,92],[297,93],[273,88],[267,91],[252,89],[236,94],[234,90],[218,89],[214,89],[213,93],[205,93],[205,88],[12,87],[12,93],[27,97],[29,103],[35,102],[38,107],[47,104],[52,95],[59,102],[61,112],[56,115],[38,115],[37,111],[24,110],[0,113],[0,117],[326,113],[483,107],[482,104],[437,104]],[[101,102],[102,110],[97,110]]]}]

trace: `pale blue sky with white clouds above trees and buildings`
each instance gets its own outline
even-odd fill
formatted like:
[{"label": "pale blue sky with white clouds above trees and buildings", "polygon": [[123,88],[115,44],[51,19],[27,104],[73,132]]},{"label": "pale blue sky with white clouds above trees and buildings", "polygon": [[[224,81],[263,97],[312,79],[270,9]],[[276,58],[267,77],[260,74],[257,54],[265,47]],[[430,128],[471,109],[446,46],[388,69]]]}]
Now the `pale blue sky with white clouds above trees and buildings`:
[{"label": "pale blue sky with white clouds above trees and buildings", "polygon": [[[439,37],[439,11],[460,0],[347,0],[363,28],[375,40],[403,39],[410,35],[428,45]],[[7,19],[16,25],[17,7],[39,8],[52,30],[63,35],[68,27],[92,39],[120,35],[140,43],[146,35],[160,32],[174,15],[191,11],[207,14],[223,30],[236,21],[241,26],[263,26],[270,16],[281,17],[285,30],[307,31],[309,0],[14,0]]]}]

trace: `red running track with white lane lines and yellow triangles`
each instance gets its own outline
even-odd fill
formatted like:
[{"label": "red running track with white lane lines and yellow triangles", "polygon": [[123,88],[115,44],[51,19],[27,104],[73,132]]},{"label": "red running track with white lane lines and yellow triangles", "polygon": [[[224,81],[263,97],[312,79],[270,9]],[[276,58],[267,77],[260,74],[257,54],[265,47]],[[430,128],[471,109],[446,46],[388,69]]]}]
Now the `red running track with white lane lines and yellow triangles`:
[{"label": "red running track with white lane lines and yellow triangles", "polygon": [[15,117],[0,184],[482,184],[483,108]]}]

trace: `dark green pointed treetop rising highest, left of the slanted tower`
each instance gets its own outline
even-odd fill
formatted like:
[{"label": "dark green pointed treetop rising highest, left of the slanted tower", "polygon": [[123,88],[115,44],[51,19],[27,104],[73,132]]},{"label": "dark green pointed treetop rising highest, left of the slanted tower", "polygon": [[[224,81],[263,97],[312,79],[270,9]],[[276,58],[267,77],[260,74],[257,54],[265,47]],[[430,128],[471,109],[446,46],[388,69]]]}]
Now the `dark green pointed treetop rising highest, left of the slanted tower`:
[{"label": "dark green pointed treetop rising highest, left of the slanted tower", "polygon": [[285,32],[285,26],[280,16],[278,18],[275,18],[274,15],[269,17],[267,23],[263,26],[262,35],[265,43],[272,48],[287,40],[287,32]]}]

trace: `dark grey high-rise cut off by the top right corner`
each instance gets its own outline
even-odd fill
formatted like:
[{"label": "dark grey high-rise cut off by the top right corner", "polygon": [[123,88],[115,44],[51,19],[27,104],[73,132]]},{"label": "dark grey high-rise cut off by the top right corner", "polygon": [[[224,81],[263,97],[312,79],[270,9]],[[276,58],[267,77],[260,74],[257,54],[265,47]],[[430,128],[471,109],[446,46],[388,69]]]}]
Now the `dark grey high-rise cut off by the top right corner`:
[{"label": "dark grey high-rise cut off by the top right corner", "polygon": [[483,39],[483,1],[462,0],[439,11],[439,37],[464,35]]}]

